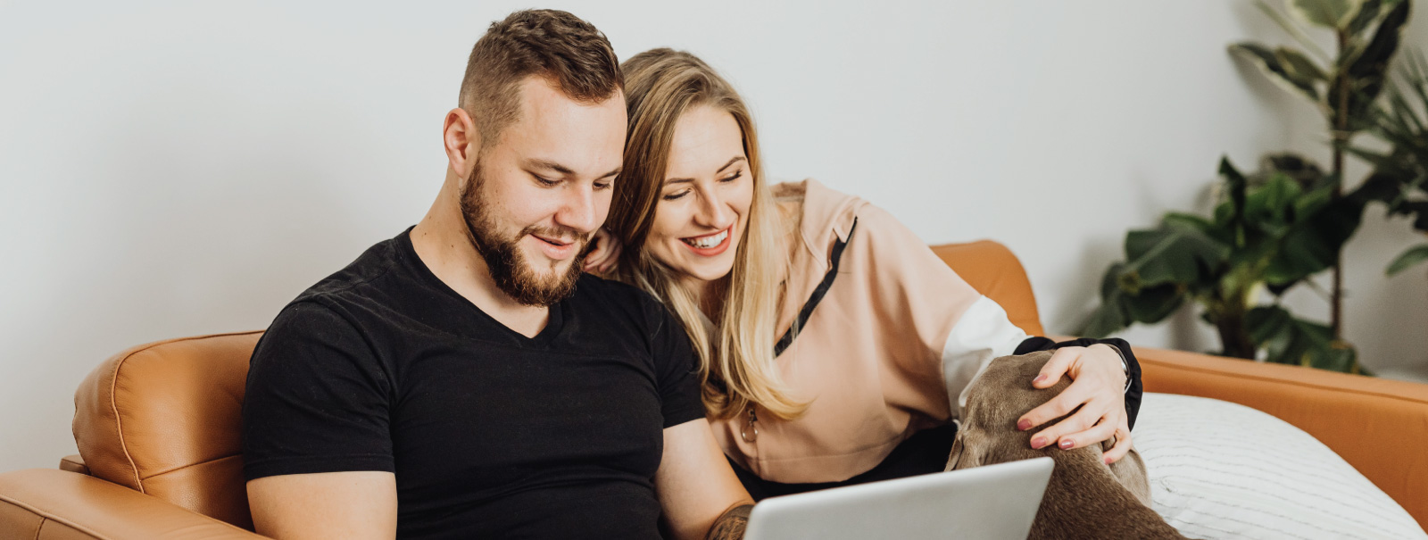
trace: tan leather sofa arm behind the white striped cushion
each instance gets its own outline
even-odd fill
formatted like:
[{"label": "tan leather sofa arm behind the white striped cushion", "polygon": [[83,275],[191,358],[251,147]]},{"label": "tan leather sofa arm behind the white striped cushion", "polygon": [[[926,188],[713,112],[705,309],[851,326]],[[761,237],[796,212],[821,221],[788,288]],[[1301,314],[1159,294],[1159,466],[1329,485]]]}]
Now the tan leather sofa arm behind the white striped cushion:
[{"label": "tan leather sofa arm behind the white striped cushion", "polygon": [[1269,413],[1332,449],[1428,524],[1428,384],[1135,347],[1145,391]]}]

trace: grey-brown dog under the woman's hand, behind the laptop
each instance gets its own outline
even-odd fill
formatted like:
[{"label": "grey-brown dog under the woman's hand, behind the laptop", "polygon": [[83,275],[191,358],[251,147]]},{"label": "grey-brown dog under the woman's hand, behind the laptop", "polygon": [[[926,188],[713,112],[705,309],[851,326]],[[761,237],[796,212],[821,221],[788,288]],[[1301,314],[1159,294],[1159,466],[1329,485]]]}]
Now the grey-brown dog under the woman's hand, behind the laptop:
[{"label": "grey-brown dog under the woman's hand, behind the laptop", "polygon": [[1134,449],[1107,466],[1102,451],[1110,449],[1110,443],[1104,449],[1091,444],[1061,450],[1051,444],[1034,450],[1034,431],[1017,430],[1017,419],[1071,384],[1061,377],[1050,389],[1031,387],[1031,380],[1047,360],[1051,360],[1051,351],[1004,356],[987,366],[968,390],[947,470],[1041,456],[1054,459],[1055,469],[1028,539],[1184,539],[1150,509],[1145,461]]}]

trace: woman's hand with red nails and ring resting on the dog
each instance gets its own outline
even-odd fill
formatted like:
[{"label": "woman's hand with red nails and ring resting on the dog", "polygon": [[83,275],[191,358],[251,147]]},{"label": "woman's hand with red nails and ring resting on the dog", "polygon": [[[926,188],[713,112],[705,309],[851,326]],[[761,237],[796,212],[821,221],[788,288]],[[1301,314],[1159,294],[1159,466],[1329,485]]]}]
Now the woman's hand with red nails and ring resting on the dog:
[{"label": "woman's hand with red nails and ring resting on the dog", "polygon": [[1105,450],[1105,463],[1125,457],[1131,451],[1131,429],[1125,417],[1122,361],[1121,353],[1108,344],[1058,349],[1031,386],[1051,387],[1062,374],[1071,377],[1071,386],[1018,419],[1017,429],[1025,431],[1072,410],[1075,414],[1038,431],[1031,437],[1031,447],[1041,449],[1055,443],[1062,450],[1071,450],[1114,437],[1115,444]]}]

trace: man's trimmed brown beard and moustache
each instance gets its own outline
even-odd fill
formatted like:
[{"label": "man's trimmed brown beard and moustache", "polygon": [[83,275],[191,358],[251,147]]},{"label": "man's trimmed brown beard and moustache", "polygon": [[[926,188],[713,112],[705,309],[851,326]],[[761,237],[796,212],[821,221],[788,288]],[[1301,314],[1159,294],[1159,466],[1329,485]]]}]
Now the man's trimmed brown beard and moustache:
[{"label": "man's trimmed brown beard and moustache", "polygon": [[[585,259],[585,246],[590,241],[590,236],[580,234],[580,231],[568,227],[548,229],[530,226],[517,233],[516,237],[501,237],[500,226],[491,219],[488,204],[481,196],[484,183],[481,164],[477,163],[476,170],[471,171],[471,177],[467,179],[466,189],[461,191],[461,216],[466,220],[467,237],[471,240],[476,251],[481,254],[481,259],[486,259],[486,267],[491,271],[496,286],[524,306],[550,306],[568,299],[575,291],[575,281],[580,280],[581,267],[584,266],[581,261]],[[534,264],[520,250],[518,243],[527,234],[540,234],[550,239],[574,239],[574,241],[580,243],[580,249],[571,257],[570,267],[564,274],[557,273],[555,276],[543,277],[536,273]],[[551,271],[558,264],[558,261],[551,261]]]}]

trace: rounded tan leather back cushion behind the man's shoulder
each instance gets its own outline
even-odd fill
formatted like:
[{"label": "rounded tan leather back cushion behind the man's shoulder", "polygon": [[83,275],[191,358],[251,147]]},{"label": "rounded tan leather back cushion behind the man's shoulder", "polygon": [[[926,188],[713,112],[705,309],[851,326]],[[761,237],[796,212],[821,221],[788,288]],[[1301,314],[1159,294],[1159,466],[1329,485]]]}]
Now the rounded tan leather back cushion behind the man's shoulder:
[{"label": "rounded tan leather back cushion behind the man's shoulder", "polygon": [[74,393],[90,473],[251,530],[240,424],[261,334],[149,343],[96,367]]}]

